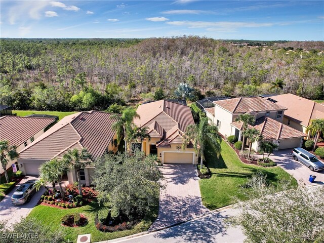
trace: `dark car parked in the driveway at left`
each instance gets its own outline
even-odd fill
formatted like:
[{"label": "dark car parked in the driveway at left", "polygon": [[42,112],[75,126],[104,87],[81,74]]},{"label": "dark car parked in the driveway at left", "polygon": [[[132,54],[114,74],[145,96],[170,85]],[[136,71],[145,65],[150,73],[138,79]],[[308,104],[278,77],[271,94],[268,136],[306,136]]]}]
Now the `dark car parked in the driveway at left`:
[{"label": "dark car parked in the driveway at left", "polygon": [[28,203],[36,192],[36,188],[34,187],[37,180],[29,180],[24,184],[20,185],[18,189],[11,196],[11,202],[15,205],[21,205]]}]

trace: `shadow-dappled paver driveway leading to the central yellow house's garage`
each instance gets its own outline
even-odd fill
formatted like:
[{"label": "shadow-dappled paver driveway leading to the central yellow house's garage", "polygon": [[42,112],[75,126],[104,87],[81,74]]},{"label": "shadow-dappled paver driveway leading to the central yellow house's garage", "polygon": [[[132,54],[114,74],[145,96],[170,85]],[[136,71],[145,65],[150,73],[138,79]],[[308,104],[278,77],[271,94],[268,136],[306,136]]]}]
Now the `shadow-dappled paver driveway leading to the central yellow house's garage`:
[{"label": "shadow-dappled paver driveway leading to the central yellow house's garage", "polygon": [[150,227],[156,230],[210,212],[201,203],[196,167],[165,164],[161,167],[165,189],[160,191],[158,217]]}]

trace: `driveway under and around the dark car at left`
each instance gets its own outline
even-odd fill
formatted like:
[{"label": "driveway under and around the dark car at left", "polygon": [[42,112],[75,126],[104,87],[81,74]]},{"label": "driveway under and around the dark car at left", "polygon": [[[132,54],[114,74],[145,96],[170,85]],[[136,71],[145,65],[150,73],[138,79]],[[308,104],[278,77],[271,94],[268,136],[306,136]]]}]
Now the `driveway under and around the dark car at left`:
[{"label": "driveway under and around the dark car at left", "polygon": [[19,222],[21,217],[26,217],[30,211],[36,206],[38,200],[41,198],[45,189],[42,187],[39,191],[32,196],[29,203],[24,205],[13,205],[11,203],[11,196],[17,190],[18,186],[23,184],[28,180],[37,179],[33,176],[25,176],[11,192],[5,196],[5,198],[0,202],[0,220],[1,222],[6,222],[6,225],[14,224]]}]

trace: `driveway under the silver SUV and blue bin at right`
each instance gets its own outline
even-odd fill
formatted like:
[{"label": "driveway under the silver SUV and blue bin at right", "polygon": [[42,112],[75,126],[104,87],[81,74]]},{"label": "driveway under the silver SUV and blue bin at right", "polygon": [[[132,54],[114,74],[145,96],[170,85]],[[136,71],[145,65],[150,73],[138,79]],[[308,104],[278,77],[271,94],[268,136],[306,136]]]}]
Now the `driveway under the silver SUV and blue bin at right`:
[{"label": "driveway under the silver SUV and blue bin at right", "polygon": [[[324,183],[324,171],[315,172],[310,171],[306,166],[299,161],[295,161],[291,156],[292,149],[282,149],[274,151],[270,158],[277,163],[279,167],[291,174],[299,184],[305,183],[306,185],[316,185]],[[262,155],[258,155],[262,157]],[[308,181],[309,175],[315,175],[316,179],[313,183]]]}]

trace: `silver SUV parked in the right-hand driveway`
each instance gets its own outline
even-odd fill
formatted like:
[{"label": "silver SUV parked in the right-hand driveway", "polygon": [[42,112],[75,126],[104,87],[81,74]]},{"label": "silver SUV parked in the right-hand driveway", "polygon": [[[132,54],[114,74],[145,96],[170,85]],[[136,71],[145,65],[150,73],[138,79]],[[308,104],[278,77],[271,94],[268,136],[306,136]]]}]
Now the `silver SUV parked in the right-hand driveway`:
[{"label": "silver SUV parked in the right-hand driveway", "polygon": [[307,166],[311,171],[324,170],[324,163],[319,161],[314,154],[303,148],[294,148],[292,151],[292,156],[295,160],[300,161],[300,163]]}]

